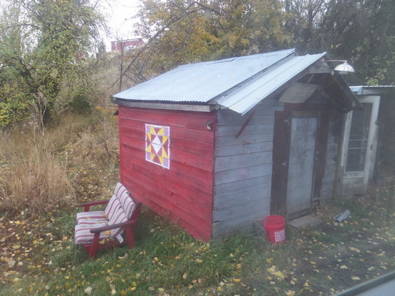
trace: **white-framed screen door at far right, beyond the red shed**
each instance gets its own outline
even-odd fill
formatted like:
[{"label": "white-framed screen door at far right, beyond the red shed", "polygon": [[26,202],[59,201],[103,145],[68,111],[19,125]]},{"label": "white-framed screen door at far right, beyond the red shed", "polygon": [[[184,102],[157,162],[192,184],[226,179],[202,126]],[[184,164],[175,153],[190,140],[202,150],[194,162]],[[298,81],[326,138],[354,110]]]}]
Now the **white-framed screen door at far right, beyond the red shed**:
[{"label": "white-framed screen door at far right, beyond the red shed", "polygon": [[363,96],[359,101],[364,106],[364,110],[349,112],[344,126],[341,157],[342,195],[365,193],[374,173],[377,147],[376,121],[380,97]]}]

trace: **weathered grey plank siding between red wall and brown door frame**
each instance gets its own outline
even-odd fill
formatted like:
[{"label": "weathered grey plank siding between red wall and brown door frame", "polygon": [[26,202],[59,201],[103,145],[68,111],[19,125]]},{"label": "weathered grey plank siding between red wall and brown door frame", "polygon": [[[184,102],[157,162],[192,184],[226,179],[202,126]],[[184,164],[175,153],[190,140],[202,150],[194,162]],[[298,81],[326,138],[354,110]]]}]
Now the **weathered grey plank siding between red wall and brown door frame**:
[{"label": "weathered grey plank siding between red wall and brown door frame", "polygon": [[274,111],[276,100],[258,107],[249,118],[230,110],[217,111],[214,163],[213,237],[249,227],[270,212]]}]

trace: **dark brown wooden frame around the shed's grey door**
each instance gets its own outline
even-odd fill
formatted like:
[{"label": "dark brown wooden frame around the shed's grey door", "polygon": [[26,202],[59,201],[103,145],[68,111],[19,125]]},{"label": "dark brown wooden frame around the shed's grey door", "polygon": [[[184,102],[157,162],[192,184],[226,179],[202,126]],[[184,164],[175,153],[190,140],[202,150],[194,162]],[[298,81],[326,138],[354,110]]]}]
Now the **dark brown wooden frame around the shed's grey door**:
[{"label": "dark brown wooden frame around the shed's grey door", "polygon": [[288,181],[291,118],[316,117],[313,198],[319,201],[322,178],[324,178],[326,145],[328,143],[329,115],[331,106],[325,104],[284,104],[284,111],[276,111],[273,136],[273,173],[271,179],[271,213],[287,216],[286,185]]}]

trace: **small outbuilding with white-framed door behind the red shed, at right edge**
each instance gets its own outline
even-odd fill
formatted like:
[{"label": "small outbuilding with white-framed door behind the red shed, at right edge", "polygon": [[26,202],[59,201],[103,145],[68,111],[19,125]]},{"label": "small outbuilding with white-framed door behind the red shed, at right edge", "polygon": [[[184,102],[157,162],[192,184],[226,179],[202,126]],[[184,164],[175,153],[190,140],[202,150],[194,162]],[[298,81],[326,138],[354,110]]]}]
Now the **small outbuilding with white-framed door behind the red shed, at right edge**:
[{"label": "small outbuilding with white-framed door behind the red shed, at right edge", "polygon": [[380,168],[395,169],[395,86],[351,86],[363,110],[345,114],[339,195],[365,194],[381,183]]}]

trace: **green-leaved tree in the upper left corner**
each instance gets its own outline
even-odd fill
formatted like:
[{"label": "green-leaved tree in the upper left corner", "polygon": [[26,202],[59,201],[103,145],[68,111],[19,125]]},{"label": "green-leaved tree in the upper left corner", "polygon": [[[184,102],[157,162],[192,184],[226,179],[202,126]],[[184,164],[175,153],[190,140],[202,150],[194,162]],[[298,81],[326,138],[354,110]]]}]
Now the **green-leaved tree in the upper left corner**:
[{"label": "green-leaved tree in the upper left corner", "polygon": [[89,81],[100,16],[89,0],[14,0],[0,18],[0,125],[47,122],[62,88]]}]

